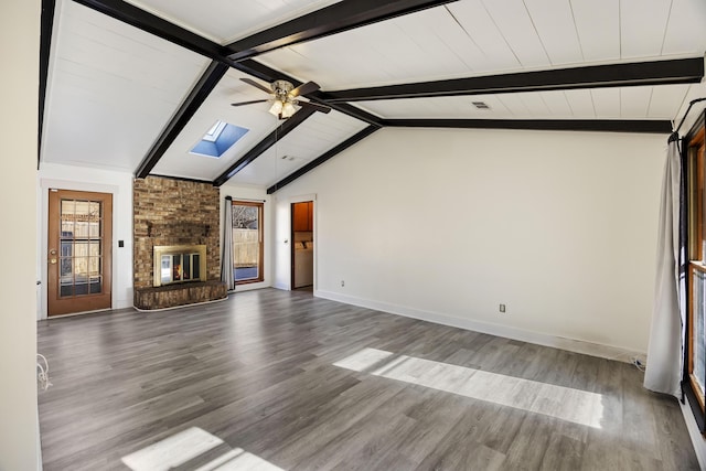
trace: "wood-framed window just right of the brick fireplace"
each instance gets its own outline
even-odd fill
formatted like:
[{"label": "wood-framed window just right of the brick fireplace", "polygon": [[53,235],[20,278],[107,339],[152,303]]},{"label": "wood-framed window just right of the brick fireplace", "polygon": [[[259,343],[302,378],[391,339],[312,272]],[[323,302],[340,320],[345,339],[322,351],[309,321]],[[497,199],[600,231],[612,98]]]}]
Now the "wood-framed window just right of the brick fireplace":
[{"label": "wood-framed window just right of the brick fireplace", "polygon": [[263,203],[233,202],[233,274],[236,285],[263,281]]}]

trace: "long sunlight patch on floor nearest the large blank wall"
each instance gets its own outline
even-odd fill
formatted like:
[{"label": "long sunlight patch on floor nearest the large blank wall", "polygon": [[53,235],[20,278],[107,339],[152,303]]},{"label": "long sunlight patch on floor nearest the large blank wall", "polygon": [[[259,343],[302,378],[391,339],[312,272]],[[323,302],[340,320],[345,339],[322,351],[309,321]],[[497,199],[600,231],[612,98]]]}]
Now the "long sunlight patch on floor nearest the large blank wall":
[{"label": "long sunlight patch on floor nearest the large blank wall", "polygon": [[602,395],[596,393],[377,349],[363,349],[333,365],[601,428]]}]

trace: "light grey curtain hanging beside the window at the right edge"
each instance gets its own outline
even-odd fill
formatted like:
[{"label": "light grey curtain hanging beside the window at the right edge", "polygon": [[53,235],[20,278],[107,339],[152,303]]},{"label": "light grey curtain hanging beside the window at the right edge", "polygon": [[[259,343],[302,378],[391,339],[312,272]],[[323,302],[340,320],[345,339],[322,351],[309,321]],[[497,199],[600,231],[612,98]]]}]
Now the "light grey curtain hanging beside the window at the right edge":
[{"label": "light grey curtain hanging beside the window at the right edge", "polygon": [[644,387],[680,397],[684,367],[686,302],[680,278],[680,211],[683,192],[678,135],[670,137],[657,233],[656,278]]}]

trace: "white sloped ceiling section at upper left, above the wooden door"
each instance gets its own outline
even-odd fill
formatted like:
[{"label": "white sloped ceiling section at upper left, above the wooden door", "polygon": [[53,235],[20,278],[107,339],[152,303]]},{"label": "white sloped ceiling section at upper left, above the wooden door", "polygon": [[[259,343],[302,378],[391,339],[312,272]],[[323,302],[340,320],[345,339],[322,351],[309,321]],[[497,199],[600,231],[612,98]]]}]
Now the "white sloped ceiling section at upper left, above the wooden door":
[{"label": "white sloped ceiling section at upper left, above the wooden door", "polygon": [[42,160],[135,171],[208,61],[73,1],[57,17]]}]

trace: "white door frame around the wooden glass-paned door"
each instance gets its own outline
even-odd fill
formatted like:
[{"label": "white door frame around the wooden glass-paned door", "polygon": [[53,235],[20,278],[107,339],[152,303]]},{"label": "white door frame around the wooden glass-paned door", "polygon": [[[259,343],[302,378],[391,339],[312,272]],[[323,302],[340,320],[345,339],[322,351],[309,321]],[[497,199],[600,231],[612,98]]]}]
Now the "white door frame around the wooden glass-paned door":
[{"label": "white door frame around the wooden glass-paned door", "polygon": [[[41,281],[41,303],[38,303],[36,308],[36,319],[49,319],[49,266],[46,264],[46,254],[49,253],[49,192],[51,189],[58,190],[68,190],[68,191],[85,191],[85,192],[94,192],[94,193],[109,193],[113,195],[113,245],[110,248],[110,254],[113,258],[111,266],[111,288],[110,288],[110,308],[115,309],[116,307],[116,283],[118,280],[118,251],[117,251],[117,238],[116,237],[116,228],[117,225],[117,215],[119,208],[119,188],[117,185],[104,185],[96,183],[83,183],[75,182],[71,180],[57,180],[57,179],[40,179],[39,192],[41,192],[41,196],[38,197],[38,201],[41,204],[41,211],[38,211],[39,221],[36,225],[39,227],[38,234],[38,257],[36,257],[36,272],[38,280]],[[131,225],[130,225],[131,227]],[[131,283],[130,283],[131,286]],[[74,315],[74,314],[66,314]]]}]

